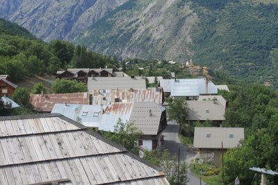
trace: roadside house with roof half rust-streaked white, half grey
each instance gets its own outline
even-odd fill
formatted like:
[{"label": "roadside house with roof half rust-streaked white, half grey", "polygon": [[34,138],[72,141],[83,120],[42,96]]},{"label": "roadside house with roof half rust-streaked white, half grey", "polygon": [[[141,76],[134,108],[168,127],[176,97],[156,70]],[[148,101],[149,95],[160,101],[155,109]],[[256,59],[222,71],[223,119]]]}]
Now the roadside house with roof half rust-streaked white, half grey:
[{"label": "roadside house with roof half rust-streaked white, half grey", "polygon": [[142,150],[161,148],[161,132],[167,126],[165,107],[154,102],[114,103],[104,112],[99,130],[113,132],[119,118],[123,123],[134,123],[142,132],[138,141]]}]

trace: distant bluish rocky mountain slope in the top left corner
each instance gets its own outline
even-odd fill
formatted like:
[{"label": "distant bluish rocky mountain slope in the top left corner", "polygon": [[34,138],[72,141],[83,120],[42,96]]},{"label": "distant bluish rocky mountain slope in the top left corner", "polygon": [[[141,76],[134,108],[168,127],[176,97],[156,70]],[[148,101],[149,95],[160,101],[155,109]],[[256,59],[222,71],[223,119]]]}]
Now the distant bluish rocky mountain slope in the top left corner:
[{"label": "distant bluish rocky mountain slope in the top left corner", "polygon": [[17,22],[36,37],[71,39],[127,0],[0,0],[0,17]]}]

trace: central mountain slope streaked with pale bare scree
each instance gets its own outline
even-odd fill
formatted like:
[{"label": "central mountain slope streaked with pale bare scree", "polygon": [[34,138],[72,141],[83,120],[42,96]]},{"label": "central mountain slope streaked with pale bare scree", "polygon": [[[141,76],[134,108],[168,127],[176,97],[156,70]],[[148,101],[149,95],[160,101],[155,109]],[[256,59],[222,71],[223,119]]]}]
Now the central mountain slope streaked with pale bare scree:
[{"label": "central mountain slope streaked with pale bare scree", "polygon": [[182,0],[128,1],[75,41],[108,55],[185,61],[197,14]]}]

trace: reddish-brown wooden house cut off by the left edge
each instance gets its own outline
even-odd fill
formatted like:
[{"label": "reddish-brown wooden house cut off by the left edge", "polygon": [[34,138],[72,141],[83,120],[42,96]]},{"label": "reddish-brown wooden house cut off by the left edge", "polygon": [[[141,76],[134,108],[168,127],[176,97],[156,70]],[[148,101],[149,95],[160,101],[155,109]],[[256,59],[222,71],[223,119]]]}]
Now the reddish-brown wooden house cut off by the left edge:
[{"label": "reddish-brown wooden house cut off by the left edge", "polygon": [[0,96],[11,96],[17,89],[17,85],[10,82],[10,76],[0,75]]}]

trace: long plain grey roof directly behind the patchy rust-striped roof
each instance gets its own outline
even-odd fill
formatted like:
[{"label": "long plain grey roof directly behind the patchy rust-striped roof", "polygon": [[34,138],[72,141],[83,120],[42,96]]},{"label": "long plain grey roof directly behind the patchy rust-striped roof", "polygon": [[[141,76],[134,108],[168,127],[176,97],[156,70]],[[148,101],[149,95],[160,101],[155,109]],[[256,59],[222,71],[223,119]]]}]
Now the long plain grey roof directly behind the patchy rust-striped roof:
[{"label": "long plain grey roof directly behind the patchy rust-striped roof", "polygon": [[92,94],[93,89],[146,89],[145,78],[142,77],[90,77],[88,78],[88,90]]}]

